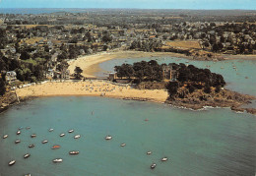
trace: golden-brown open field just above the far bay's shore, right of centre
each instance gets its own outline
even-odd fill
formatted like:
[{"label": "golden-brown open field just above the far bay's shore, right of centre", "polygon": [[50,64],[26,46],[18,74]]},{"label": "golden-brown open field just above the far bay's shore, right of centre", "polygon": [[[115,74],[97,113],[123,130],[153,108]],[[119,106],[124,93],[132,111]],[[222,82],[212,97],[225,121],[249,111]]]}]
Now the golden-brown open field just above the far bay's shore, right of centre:
[{"label": "golden-brown open field just above the far bay's shore, right of centre", "polygon": [[175,41],[167,41],[165,46],[170,47],[181,47],[187,49],[201,49],[200,44],[197,40],[175,40]]}]

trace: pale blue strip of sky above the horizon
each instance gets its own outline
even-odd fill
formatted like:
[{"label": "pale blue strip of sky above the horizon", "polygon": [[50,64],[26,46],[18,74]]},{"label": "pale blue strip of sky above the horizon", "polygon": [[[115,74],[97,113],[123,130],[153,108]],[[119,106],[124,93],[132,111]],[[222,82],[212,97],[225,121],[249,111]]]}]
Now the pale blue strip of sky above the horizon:
[{"label": "pale blue strip of sky above the horizon", "polygon": [[138,8],[256,10],[256,0],[0,0],[0,8]]}]

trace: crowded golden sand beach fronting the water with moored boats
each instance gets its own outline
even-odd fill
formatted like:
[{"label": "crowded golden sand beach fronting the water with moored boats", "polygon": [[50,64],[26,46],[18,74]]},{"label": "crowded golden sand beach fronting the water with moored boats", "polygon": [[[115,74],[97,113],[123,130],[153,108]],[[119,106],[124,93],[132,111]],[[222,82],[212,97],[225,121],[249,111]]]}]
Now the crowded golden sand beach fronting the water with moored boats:
[{"label": "crowded golden sand beach fronting the water with moored boats", "polygon": [[85,81],[85,82],[64,82],[45,83],[28,88],[18,88],[17,94],[21,98],[31,96],[65,96],[65,95],[88,95],[105,96],[125,99],[147,100],[164,102],[167,98],[167,91],[163,89],[135,89],[128,85],[114,85],[107,81]]}]

